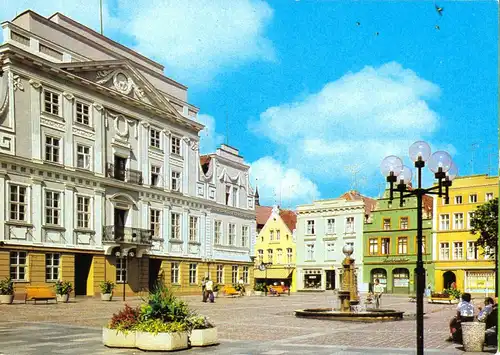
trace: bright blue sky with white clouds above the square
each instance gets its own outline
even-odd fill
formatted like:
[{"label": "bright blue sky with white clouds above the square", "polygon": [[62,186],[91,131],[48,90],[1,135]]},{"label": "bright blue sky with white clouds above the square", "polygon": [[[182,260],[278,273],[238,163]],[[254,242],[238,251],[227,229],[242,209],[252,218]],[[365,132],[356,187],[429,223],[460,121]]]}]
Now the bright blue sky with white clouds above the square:
[{"label": "bright blue sky with white clouds above the square", "polygon": [[[498,171],[497,1],[103,3],[104,34],[189,87],[201,153],[238,148],[261,204],[377,197],[381,160],[411,165],[418,140],[459,175]],[[28,8],[99,30],[99,0],[0,0],[0,19]]]}]

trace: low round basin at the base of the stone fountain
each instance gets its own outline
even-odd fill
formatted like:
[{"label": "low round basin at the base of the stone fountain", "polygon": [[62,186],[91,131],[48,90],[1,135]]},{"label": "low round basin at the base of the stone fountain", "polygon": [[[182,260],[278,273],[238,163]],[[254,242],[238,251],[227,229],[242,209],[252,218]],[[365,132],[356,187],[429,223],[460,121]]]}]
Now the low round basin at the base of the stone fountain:
[{"label": "low round basin at the base of the stone fountain", "polygon": [[350,322],[383,322],[403,319],[403,313],[390,309],[371,309],[361,312],[341,312],[331,308],[309,308],[295,311],[295,316],[300,318],[315,318],[325,320],[338,320]]}]

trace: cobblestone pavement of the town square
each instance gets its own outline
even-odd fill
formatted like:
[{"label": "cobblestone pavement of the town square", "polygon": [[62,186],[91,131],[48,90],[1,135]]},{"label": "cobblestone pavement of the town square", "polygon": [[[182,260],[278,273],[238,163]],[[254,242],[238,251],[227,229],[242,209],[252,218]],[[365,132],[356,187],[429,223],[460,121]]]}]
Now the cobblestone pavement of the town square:
[{"label": "cobblestone pavement of the town square", "polygon": [[[293,311],[333,305],[326,293],[281,297],[184,297],[191,307],[217,325],[221,344],[190,349],[186,354],[413,354],[415,303],[406,297],[384,296],[383,308],[405,311],[405,320],[385,323],[349,323],[296,318]],[[480,302],[481,300],[477,300]],[[126,303],[139,304],[130,299]],[[138,354],[138,350],[105,348],[101,327],[123,307],[121,300],[102,302],[77,298],[64,304],[0,305],[0,354]],[[425,305],[426,353],[464,354],[444,341],[452,305]],[[493,352],[493,349],[488,351]]]}]

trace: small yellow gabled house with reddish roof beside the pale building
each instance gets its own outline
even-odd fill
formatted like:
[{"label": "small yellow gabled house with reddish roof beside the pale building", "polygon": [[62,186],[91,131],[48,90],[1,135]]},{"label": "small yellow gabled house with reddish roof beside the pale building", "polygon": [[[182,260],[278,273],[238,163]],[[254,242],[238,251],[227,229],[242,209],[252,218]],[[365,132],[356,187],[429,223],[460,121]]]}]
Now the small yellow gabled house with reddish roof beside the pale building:
[{"label": "small yellow gabled house with reddish roof beside the pale building", "polygon": [[[277,206],[255,206],[257,229],[255,241],[256,283],[271,285],[284,282],[295,291],[295,238],[297,216],[293,211],[280,210]],[[260,265],[266,265],[259,269]]]}]

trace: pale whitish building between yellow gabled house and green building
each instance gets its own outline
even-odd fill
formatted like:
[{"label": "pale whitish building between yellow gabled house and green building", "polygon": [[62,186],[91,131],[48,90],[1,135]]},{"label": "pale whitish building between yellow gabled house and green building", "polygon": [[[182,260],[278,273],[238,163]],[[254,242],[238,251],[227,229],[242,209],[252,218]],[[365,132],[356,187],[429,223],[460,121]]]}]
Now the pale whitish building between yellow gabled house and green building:
[{"label": "pale whitish building between yellow gabled house and green building", "polygon": [[371,201],[350,191],[341,198],[297,207],[298,291],[338,289],[346,244],[354,248],[358,289],[368,290],[363,276],[363,224]]}]

